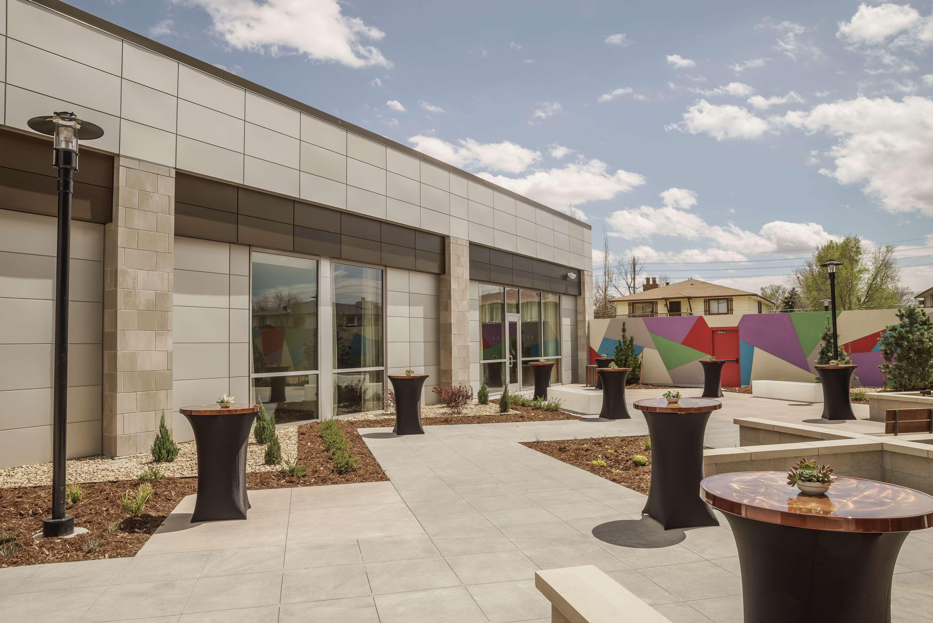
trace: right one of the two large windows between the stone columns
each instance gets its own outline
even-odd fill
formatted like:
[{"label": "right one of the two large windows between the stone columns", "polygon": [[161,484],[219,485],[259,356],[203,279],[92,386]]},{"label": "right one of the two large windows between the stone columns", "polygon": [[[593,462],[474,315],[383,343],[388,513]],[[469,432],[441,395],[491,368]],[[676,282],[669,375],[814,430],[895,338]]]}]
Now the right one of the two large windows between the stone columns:
[{"label": "right one of the two large windows between the stone columns", "polygon": [[383,271],[333,264],[334,415],[383,407]]}]

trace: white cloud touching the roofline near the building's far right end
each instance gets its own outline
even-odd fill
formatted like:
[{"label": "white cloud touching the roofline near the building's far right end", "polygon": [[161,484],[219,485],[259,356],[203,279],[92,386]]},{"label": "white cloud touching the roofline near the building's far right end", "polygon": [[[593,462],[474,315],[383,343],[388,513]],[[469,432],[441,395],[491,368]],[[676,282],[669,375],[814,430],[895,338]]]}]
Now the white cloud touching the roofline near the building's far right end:
[{"label": "white cloud touching the roofline near the building's far right end", "polygon": [[613,173],[606,163],[582,158],[561,168],[535,171],[524,177],[493,176],[488,173],[477,175],[568,213],[572,213],[569,210],[571,205],[612,199],[620,192],[631,191],[646,182],[645,177],[637,173],[622,169]]}]

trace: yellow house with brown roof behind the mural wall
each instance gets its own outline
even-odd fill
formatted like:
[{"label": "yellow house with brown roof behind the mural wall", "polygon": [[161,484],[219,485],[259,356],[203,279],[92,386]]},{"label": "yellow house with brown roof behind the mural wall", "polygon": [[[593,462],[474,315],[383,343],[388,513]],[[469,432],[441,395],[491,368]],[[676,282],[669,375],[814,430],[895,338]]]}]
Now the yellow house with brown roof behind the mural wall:
[{"label": "yellow house with brown roof behind the mural wall", "polygon": [[616,304],[617,316],[623,318],[767,314],[775,307],[755,292],[699,279],[660,285],[654,277],[645,279],[642,291],[610,300]]}]

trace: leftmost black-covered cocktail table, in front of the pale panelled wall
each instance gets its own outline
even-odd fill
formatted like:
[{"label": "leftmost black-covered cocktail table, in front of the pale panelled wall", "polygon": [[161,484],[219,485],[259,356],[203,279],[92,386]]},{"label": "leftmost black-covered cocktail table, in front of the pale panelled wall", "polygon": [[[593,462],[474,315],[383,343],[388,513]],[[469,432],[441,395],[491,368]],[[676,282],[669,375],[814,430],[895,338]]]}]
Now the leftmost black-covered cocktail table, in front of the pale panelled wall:
[{"label": "leftmost black-covered cocktail table, in front of the pale panelled wall", "polygon": [[191,523],[245,519],[246,442],[258,404],[199,404],[178,411],[191,423],[198,446],[198,496]]}]

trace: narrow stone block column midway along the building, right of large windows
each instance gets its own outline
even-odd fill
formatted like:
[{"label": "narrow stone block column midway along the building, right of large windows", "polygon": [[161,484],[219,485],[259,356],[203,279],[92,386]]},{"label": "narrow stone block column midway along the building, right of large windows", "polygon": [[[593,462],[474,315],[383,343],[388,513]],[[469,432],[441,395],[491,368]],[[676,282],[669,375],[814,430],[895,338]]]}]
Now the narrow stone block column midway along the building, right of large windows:
[{"label": "narrow stone block column midway along the building, right of large windows", "polygon": [[448,236],[440,276],[440,384],[469,385],[469,242]]}]

